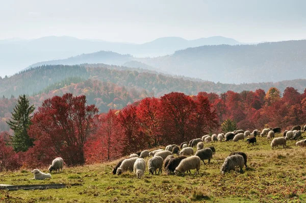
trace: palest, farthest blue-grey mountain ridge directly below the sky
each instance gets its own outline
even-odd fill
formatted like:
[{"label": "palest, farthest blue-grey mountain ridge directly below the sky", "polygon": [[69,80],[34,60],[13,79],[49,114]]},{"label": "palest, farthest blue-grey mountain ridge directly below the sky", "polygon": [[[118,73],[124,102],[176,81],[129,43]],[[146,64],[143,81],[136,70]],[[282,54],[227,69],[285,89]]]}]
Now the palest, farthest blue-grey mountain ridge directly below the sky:
[{"label": "palest, farthest blue-grey mountain ridge directly below the sky", "polygon": [[7,74],[10,75],[37,62],[66,59],[100,50],[131,54],[135,57],[157,57],[173,54],[175,50],[210,44],[240,44],[240,42],[225,37],[197,40],[164,37],[144,44],[116,43],[68,36],[48,36],[32,40],[12,38],[0,40],[0,69],[6,69],[9,72]]}]

